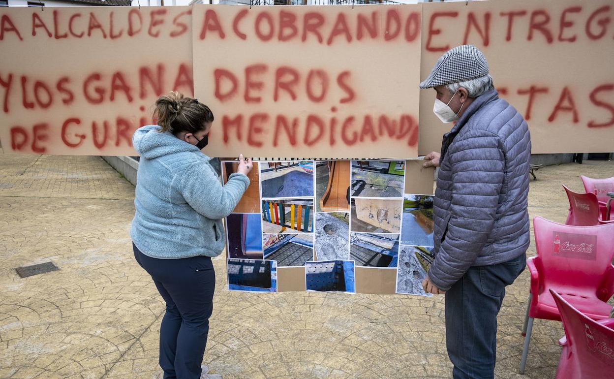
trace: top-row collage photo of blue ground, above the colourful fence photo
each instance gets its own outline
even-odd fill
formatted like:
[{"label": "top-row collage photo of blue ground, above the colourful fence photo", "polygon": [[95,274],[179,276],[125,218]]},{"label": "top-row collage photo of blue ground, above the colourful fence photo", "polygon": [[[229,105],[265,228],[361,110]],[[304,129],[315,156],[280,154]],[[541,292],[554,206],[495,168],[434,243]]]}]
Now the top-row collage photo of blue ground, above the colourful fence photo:
[{"label": "top-row collage photo of blue ground, above the colourful fence photo", "polygon": [[314,162],[260,162],[262,198],[313,197]]}]

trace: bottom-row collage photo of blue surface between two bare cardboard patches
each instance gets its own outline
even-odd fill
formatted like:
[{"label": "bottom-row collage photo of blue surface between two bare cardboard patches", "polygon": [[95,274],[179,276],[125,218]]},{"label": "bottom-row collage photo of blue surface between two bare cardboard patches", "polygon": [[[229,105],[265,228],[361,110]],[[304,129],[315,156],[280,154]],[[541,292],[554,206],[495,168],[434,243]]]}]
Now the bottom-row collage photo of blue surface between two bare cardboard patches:
[{"label": "bottom-row collage photo of blue surface between two bare cardboard patches", "polygon": [[356,292],[352,260],[307,262],[305,273],[307,291]]}]

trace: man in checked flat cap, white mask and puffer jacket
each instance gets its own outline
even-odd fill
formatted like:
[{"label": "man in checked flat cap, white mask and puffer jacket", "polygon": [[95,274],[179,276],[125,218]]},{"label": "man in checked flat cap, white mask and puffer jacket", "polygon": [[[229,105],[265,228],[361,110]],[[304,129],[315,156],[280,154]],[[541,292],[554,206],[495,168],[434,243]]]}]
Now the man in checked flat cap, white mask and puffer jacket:
[{"label": "man in checked flat cap, white mask and puffer jacket", "polygon": [[437,92],[433,112],[442,122],[456,121],[441,153],[424,158],[424,166],[440,171],[436,255],[422,286],[445,294],[453,377],[494,378],[497,313],[529,247],[529,129],[499,98],[475,46],[445,53],[420,88]]}]

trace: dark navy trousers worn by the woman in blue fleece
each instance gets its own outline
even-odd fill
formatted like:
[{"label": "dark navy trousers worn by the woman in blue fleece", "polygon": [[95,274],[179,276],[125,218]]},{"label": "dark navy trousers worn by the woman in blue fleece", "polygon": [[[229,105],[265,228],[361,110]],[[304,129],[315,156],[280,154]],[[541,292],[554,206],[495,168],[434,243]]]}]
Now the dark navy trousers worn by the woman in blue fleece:
[{"label": "dark navy trousers worn by the woman in blue fleece", "polygon": [[200,378],[213,310],[216,272],[211,258],[156,259],[139,251],[134,257],[153,278],[166,302],[160,326],[160,367],[164,379]]}]

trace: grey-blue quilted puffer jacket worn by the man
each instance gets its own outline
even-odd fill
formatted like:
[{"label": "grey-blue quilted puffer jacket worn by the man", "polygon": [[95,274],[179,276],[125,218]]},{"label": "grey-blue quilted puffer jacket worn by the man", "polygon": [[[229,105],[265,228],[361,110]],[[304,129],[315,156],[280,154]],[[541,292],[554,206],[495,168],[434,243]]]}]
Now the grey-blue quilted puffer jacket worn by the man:
[{"label": "grey-blue quilted puffer jacket worn by the man", "polygon": [[469,267],[494,265],[529,247],[529,128],[491,90],[443,137],[433,205],[429,278],[447,291]]}]

